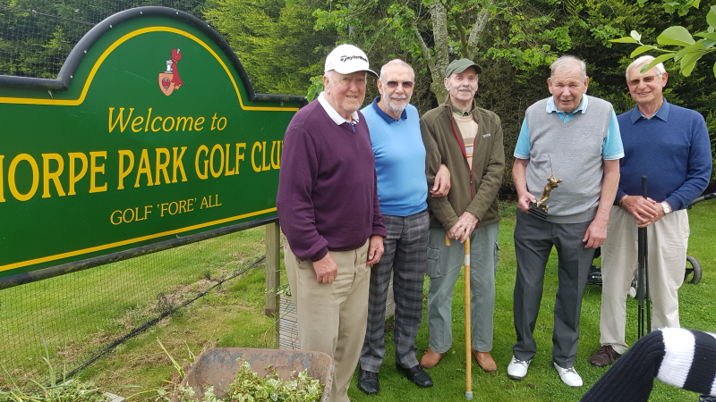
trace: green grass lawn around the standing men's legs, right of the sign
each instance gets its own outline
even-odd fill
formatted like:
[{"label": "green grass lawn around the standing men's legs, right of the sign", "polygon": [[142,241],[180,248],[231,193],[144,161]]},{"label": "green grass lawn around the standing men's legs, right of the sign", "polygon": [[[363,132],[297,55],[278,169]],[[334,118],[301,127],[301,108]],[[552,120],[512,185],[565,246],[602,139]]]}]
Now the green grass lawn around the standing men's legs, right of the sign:
[{"label": "green grass lawn around the standing men's legs, right of the sign", "polygon": [[[712,222],[716,217],[716,203],[704,202],[689,212],[691,238],[689,255],[693,255],[703,266],[703,279],[697,285],[685,284],[679,290],[681,325],[702,331],[716,331],[716,308],[714,308],[714,283],[716,283],[716,251],[713,245]],[[473,400],[476,401],[576,401],[584,392],[605,373],[607,369],[592,367],[589,357],[600,347],[599,316],[601,306],[601,288],[587,286],[582,305],[580,325],[580,343],[575,369],[584,380],[584,387],[571,389],[562,383],[558,374],[550,367],[551,334],[553,327],[554,297],[557,292],[557,254],[547,267],[544,292],[541,301],[540,316],[534,331],[537,339],[537,355],[530,365],[529,373],[523,381],[507,378],[507,364],[512,357],[512,346],[516,335],[512,321],[512,294],[515,286],[516,259],[512,240],[515,219],[507,217],[501,222],[499,244],[502,248],[499,257],[497,275],[497,299],[495,302],[495,335],[492,356],[498,364],[497,373],[483,373],[473,359]],[[465,282],[457,281],[453,299],[453,348],[443,357],[440,364],[430,370],[435,386],[430,389],[418,389],[405,380],[395,369],[395,347],[387,342],[386,359],[379,373],[380,392],[377,396],[366,396],[355,388],[357,375],[348,395],[354,401],[425,401],[425,400],[465,400]],[[427,281],[425,284],[427,294]],[[626,341],[633,344],[636,340],[636,301],[627,302]],[[423,309],[423,324],[418,334],[419,357],[428,348],[428,329],[425,321],[427,310]],[[391,338],[392,334],[388,334]],[[676,389],[656,381],[652,392],[652,401],[697,400],[692,392]]]}]

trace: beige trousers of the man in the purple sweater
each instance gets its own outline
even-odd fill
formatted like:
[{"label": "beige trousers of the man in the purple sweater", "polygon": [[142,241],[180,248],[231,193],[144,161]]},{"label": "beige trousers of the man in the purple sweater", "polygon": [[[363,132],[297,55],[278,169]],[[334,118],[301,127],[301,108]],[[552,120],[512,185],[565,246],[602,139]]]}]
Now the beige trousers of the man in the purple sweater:
[{"label": "beige trousers of the man in the purple sweater", "polygon": [[286,276],[296,308],[301,348],[333,357],[336,375],[332,402],[348,401],[348,386],[361,356],[368,318],[371,267],[368,244],[351,251],[330,251],[338,265],[333,283],[318,283],[311,260],[299,260],[284,244]]}]

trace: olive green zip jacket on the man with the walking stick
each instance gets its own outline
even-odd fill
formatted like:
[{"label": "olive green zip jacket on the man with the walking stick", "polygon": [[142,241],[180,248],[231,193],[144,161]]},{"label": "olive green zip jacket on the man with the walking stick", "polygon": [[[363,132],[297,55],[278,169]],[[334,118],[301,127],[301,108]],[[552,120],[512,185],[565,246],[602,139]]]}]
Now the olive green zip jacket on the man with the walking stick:
[{"label": "olive green zip jacket on the man with the walking stick", "polygon": [[450,171],[447,197],[428,196],[430,226],[453,227],[465,211],[478,219],[478,226],[499,222],[498,191],[505,174],[505,148],[502,124],[497,114],[473,107],[478,130],[473,147],[473,172],[465,157],[463,136],[453,121],[449,99],[420,121],[425,144],[425,174],[432,188],[440,163]]}]

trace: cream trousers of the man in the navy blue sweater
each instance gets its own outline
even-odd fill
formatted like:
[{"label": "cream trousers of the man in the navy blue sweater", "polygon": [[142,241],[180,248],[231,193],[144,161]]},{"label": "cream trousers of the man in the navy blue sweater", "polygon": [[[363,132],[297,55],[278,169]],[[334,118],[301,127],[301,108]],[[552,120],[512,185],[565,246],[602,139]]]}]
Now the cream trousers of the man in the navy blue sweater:
[{"label": "cream trousers of the man in the navy blue sweater", "polygon": [[[607,239],[601,246],[601,345],[611,345],[619,354],[625,340],[626,293],[639,268],[638,233],[634,215],[612,206]],[[649,225],[649,293],[652,298],[652,330],[678,328],[678,288],[686,272],[688,214],[676,211]]]}]

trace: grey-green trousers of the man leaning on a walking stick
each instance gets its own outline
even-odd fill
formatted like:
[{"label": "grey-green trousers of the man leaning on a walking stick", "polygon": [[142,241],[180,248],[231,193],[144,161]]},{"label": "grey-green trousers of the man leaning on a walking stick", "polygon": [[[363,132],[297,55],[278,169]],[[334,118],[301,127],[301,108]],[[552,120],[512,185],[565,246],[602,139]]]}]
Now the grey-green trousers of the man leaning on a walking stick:
[{"label": "grey-green trousers of the man leaning on a walking stick", "polygon": [[[446,230],[430,228],[428,240],[428,330],[430,349],[445,353],[452,345],[453,289],[465,257],[465,245],[451,240]],[[470,317],[473,348],[492,350],[492,317],[495,312],[495,272],[498,265],[499,222],[478,227],[470,235]]]}]

